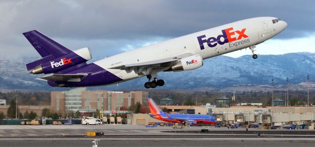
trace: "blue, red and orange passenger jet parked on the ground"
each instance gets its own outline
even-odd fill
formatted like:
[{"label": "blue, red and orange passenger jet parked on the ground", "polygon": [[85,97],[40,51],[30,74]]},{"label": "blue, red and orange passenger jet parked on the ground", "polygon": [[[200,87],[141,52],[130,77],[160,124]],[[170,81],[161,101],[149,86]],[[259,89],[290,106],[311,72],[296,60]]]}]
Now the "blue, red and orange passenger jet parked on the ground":
[{"label": "blue, red and orange passenger jet parked on the ground", "polygon": [[169,123],[216,124],[214,116],[197,114],[169,114],[158,108],[152,98],[148,98],[151,117]]}]

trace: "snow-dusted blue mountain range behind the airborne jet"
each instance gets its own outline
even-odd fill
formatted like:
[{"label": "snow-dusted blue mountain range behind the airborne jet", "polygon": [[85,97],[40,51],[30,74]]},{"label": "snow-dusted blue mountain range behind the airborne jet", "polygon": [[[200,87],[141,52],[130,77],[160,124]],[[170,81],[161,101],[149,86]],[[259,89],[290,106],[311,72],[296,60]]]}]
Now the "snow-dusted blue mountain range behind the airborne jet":
[{"label": "snow-dusted blue mountain range behind the airborne jet", "polygon": [[[0,56],[0,88],[2,89],[40,89],[64,90],[52,88],[45,81],[35,78],[42,75],[32,75],[26,70],[26,63],[36,60],[27,57]],[[95,60],[95,59],[94,59]],[[164,79],[165,85],[158,88],[192,89],[199,87],[229,87],[240,84],[298,84],[315,79],[315,53],[300,52],[284,55],[259,55],[252,59],[251,55],[239,58],[218,56],[204,60],[203,67],[185,72],[158,73]],[[146,77],[140,77],[117,85],[95,87],[96,89],[144,89]],[[95,89],[93,88],[93,89]]]}]

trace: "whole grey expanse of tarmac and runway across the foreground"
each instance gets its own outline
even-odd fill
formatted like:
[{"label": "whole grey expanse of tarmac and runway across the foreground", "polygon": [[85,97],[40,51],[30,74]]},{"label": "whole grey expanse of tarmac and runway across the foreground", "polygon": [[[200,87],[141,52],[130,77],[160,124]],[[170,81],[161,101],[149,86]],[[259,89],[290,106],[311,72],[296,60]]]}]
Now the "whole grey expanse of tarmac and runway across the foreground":
[{"label": "whole grey expanse of tarmac and runway across the foreground", "polygon": [[94,137],[86,137],[87,132],[104,132],[97,137],[98,147],[315,147],[314,130],[205,128],[209,133],[200,133],[202,127],[0,125],[0,147],[92,147]]}]

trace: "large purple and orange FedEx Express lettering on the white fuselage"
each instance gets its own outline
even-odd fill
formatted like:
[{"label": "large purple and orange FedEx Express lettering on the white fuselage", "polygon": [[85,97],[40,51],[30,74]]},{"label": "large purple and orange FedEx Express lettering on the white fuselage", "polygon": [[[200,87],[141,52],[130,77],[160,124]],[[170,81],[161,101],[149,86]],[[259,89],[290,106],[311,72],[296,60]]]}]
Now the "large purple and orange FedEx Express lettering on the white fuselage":
[{"label": "large purple and orange FedEx Express lettering on the white fuselage", "polygon": [[[218,35],[217,38],[216,37],[210,37],[207,39],[206,35],[201,35],[201,36],[197,37],[197,40],[199,42],[199,46],[200,46],[201,50],[205,49],[204,43],[207,43],[207,45],[210,48],[216,47],[218,44],[223,45],[225,43],[229,43],[230,48],[233,46],[236,47],[238,45],[250,42],[250,39],[246,39],[246,40],[239,41],[236,43],[231,43],[233,41],[240,40],[242,38],[247,38],[248,36],[245,34],[245,30],[246,30],[246,28],[243,28],[242,30],[234,31],[233,27],[230,27],[230,28],[222,29],[221,30],[222,35]],[[238,36],[236,36],[236,34],[238,34]],[[223,38],[224,40],[222,41],[221,38]]]}]

